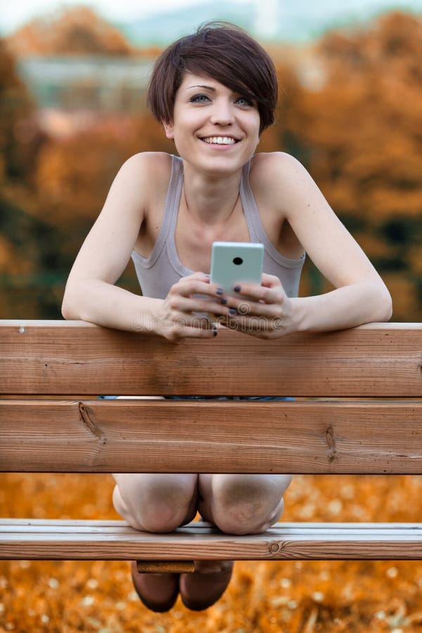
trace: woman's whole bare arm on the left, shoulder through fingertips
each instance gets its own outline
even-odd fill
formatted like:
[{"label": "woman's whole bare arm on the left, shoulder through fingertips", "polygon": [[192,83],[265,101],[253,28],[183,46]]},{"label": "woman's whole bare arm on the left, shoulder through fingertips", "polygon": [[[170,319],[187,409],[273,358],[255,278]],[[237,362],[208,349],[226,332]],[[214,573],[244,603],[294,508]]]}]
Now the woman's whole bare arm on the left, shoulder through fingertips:
[{"label": "woman's whole bare arm on the left, shoulder through fingertips", "polygon": [[[137,154],[118,172],[103,210],[70,271],[62,305],[65,319],[153,332],[176,340],[214,335],[212,324],[192,312],[207,312],[210,308],[216,314],[229,312],[229,308],[219,304],[217,288],[201,273],[174,284],[165,300],[139,296],[114,285],[127,266],[145,210],[156,196],[157,187],[163,181],[167,185],[168,160],[165,154]],[[196,293],[210,295],[211,302],[192,298]]]}]

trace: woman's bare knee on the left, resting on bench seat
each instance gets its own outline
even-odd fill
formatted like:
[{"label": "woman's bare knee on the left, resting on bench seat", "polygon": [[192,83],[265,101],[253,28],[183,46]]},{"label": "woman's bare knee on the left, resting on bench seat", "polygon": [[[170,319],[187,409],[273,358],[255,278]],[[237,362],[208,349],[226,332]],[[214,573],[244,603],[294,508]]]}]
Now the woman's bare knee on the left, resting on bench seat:
[{"label": "woman's bare knee on the left, resting on bench seat", "polygon": [[114,475],[116,511],[137,530],[172,532],[195,513],[197,475]]}]

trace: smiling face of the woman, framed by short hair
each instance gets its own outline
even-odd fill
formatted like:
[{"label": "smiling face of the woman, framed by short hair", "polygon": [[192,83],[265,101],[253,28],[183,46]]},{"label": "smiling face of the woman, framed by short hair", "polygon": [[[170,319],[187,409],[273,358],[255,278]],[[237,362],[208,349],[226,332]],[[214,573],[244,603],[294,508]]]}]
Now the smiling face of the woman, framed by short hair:
[{"label": "smiling face of the woman, framed by short hair", "polygon": [[205,172],[233,173],[251,158],[260,140],[256,103],[216,79],[185,72],[172,122],[163,122],[181,158]]}]

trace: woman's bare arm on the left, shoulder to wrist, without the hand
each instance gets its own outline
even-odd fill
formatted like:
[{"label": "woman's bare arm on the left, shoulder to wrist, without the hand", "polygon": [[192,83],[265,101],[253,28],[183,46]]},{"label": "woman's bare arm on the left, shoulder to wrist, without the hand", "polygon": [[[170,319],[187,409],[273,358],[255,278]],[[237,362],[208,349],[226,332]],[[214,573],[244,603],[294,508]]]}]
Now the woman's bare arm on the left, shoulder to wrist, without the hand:
[{"label": "woman's bare arm on the left, shoulder to wrist, without the hand", "polygon": [[114,286],[129,261],[148,204],[151,156],[137,154],[122,165],[98,219],[73,264],[63,298],[65,319],[131,330],[151,328],[157,300]]}]

